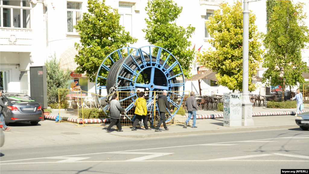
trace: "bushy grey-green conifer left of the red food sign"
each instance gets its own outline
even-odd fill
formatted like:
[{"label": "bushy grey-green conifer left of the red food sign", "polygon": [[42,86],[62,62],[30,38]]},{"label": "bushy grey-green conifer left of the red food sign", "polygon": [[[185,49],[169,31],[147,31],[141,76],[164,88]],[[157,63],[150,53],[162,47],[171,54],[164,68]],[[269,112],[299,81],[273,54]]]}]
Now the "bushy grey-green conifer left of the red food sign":
[{"label": "bushy grey-green conifer left of the red food sign", "polygon": [[63,70],[60,68],[60,61],[54,56],[45,62],[47,74],[47,102],[48,104],[59,101],[58,89],[67,89],[70,84],[69,69]]}]

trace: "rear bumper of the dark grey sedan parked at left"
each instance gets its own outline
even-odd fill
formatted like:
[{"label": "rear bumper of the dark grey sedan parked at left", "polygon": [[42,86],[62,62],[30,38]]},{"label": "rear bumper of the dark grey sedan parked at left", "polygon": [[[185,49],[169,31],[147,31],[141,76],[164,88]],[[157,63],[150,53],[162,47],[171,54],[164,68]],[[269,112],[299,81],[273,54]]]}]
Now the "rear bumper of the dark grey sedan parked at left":
[{"label": "rear bumper of the dark grey sedan parked at left", "polygon": [[7,123],[42,121],[42,111],[36,111],[35,113],[29,114],[21,113],[19,111],[11,111],[6,114],[5,121]]}]

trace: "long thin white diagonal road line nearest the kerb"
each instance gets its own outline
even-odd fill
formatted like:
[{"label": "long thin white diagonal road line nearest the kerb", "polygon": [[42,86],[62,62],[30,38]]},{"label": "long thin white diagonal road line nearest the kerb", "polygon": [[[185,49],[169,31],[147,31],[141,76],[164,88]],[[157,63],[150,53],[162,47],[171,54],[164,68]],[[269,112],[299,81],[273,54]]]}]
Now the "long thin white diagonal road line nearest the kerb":
[{"label": "long thin white diagonal road line nearest the kerb", "polygon": [[[304,137],[304,136],[308,136],[308,135],[301,135],[301,136],[297,136],[297,137]],[[280,137],[280,138],[282,138],[282,137]],[[284,137],[284,138],[289,138],[289,137]],[[260,140],[273,140],[273,139],[279,139],[279,138],[267,138],[267,139],[260,139]],[[260,141],[260,140],[252,140],[252,141]],[[239,142],[239,141],[220,142],[220,143],[233,143],[233,142]],[[220,143],[209,143],[209,144],[220,144]],[[156,149],[167,149],[167,148],[189,147],[189,146],[200,146],[200,145],[206,145],[206,144],[195,144],[195,145],[185,145],[185,146],[170,146],[170,147],[158,147],[158,148],[137,149],[137,150],[122,150],[122,151],[115,151],[115,152],[129,152],[129,151],[139,151],[139,150],[156,150]],[[16,160],[9,160],[9,161],[0,161],[0,163],[12,162],[12,161],[32,160],[32,159],[45,159],[45,158],[55,158],[55,157],[82,156],[82,155],[108,154],[108,153],[114,153],[114,152],[99,152],[99,153],[91,153],[91,154],[77,154],[77,155],[63,155],[63,156],[43,157],[43,158],[16,159]],[[78,161],[76,161],[76,162],[78,162]]]}]

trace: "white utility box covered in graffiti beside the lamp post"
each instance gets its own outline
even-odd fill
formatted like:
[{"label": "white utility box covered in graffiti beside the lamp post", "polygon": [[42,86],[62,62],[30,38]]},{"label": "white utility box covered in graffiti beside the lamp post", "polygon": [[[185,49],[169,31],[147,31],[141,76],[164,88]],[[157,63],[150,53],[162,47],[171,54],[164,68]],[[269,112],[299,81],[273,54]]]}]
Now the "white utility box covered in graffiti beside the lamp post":
[{"label": "white utility box covered in graffiti beside the lamp post", "polygon": [[224,93],[223,99],[223,126],[241,126],[242,94]]}]

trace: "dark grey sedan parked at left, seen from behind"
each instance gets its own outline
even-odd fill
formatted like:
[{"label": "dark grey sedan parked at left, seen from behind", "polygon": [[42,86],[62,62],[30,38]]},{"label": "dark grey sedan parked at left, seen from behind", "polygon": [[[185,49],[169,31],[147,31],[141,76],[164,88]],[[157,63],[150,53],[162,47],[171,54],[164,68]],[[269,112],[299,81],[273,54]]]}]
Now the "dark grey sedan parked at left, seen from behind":
[{"label": "dark grey sedan parked at left, seen from behind", "polygon": [[5,122],[3,124],[30,121],[32,125],[37,125],[42,121],[41,105],[30,96],[20,93],[2,93],[1,97],[5,105],[12,107],[12,109],[3,108]]}]

